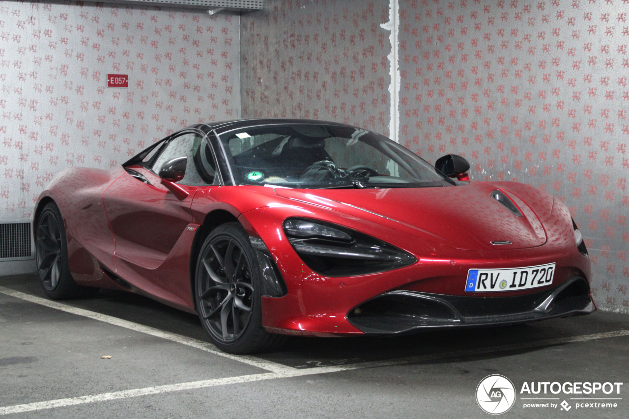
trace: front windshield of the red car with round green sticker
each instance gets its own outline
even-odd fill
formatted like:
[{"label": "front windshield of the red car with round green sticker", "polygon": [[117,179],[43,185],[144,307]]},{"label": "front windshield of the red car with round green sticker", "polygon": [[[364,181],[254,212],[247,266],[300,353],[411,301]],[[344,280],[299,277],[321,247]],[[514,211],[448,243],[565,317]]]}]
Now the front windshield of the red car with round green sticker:
[{"label": "front windshield of the red car with round green sticker", "polygon": [[386,137],[349,126],[291,124],[220,135],[235,184],[295,188],[450,186]]}]

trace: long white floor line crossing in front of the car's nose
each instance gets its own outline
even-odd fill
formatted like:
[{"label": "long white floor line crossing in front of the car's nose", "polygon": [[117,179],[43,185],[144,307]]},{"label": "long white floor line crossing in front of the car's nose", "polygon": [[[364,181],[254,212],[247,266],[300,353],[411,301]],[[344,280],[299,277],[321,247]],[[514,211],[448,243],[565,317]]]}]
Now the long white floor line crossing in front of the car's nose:
[{"label": "long white floor line crossing in front of the car's nose", "polygon": [[[0,291],[2,289],[0,288]],[[400,359],[360,362],[358,364],[316,367],[309,369],[292,369],[282,372],[267,372],[266,374],[252,374],[248,376],[227,377],[219,379],[209,379],[203,381],[192,381],[190,383],[167,384],[165,386],[145,387],[139,389],[131,389],[124,391],[114,391],[111,393],[92,394],[88,396],[56,399],[49,401],[40,401],[36,403],[27,403],[24,405],[3,406],[0,407],[0,416],[9,415],[11,413],[23,413],[26,411],[38,411],[52,408],[61,408],[65,406],[84,405],[86,403],[96,403],[98,401],[109,401],[116,399],[125,399],[138,396],[149,396],[152,394],[172,393],[174,391],[201,389],[215,386],[226,386],[229,384],[252,383],[253,381],[262,381],[279,378],[309,376],[313,374],[328,374],[330,372],[340,372],[355,369],[365,369],[374,367],[395,366],[402,364],[411,364],[413,362],[428,362],[442,359],[464,358],[470,355],[491,354],[495,352],[504,352],[516,349],[528,349],[532,347],[544,347],[549,345],[569,344],[571,342],[587,342],[589,340],[598,340],[611,337],[629,336],[629,330],[616,330],[615,332],[594,333],[593,335],[580,335],[573,337],[538,340],[537,342],[526,342],[523,344],[498,345],[487,348],[479,348],[474,350],[454,350],[451,352],[442,352],[440,354],[417,355]]]}]

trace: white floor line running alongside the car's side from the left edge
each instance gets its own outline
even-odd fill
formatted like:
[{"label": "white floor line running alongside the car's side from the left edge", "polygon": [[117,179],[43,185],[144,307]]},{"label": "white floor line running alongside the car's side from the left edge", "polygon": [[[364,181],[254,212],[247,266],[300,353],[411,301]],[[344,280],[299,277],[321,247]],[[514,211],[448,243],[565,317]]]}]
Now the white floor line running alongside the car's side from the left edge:
[{"label": "white floor line running alongside the car's side from the left edge", "polygon": [[91,318],[93,320],[103,321],[104,323],[109,323],[110,325],[124,327],[126,329],[133,330],[135,332],[145,333],[147,335],[152,335],[155,337],[159,337],[162,339],[170,340],[172,342],[176,342],[177,344],[187,345],[189,347],[193,347],[195,349],[204,350],[205,352],[209,352],[214,355],[218,355],[223,358],[228,358],[232,360],[237,360],[238,362],[242,362],[243,364],[248,364],[253,367],[259,367],[265,369],[267,371],[272,372],[282,372],[282,371],[291,371],[295,368],[284,366],[282,364],[277,364],[276,362],[267,361],[264,359],[260,359],[257,357],[252,357],[248,355],[231,355],[227,354],[219,350],[214,345],[209,342],[204,342],[203,340],[198,340],[182,335],[177,335],[177,333],[165,332],[164,330],[160,330],[154,327],[140,325],[138,323],[133,323],[133,321],[123,320],[121,318],[117,318],[114,316],[108,316],[101,313],[96,313],[95,311],[84,310],[82,308],[77,308],[73,306],[69,306],[67,304],[58,303],[57,301],[52,301],[50,299],[40,298],[37,296],[33,296],[30,294],[21,293],[19,291],[15,291],[10,288],[5,288],[0,286],[0,293],[6,294],[8,296],[23,299],[28,301],[29,303],[40,304],[42,306],[46,306],[49,308],[54,308],[55,310],[65,311],[66,313],[71,313],[77,316],[83,316],[87,318]]}]

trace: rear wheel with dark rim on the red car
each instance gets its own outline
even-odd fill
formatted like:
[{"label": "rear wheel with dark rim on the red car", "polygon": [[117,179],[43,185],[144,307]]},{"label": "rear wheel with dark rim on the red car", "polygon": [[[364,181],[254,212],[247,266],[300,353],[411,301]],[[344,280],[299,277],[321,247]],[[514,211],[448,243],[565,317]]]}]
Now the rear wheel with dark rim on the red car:
[{"label": "rear wheel with dark rim on the red car", "polygon": [[51,202],[43,207],[35,235],[37,271],[48,298],[84,298],[98,293],[98,288],[77,285],[70,274],[64,221],[57,204]]}]

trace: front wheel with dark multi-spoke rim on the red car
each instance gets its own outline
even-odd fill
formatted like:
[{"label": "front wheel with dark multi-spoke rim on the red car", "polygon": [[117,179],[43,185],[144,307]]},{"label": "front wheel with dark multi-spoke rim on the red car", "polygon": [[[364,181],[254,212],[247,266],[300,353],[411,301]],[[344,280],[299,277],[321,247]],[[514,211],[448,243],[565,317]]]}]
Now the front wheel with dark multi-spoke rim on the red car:
[{"label": "front wheel with dark multi-spoke rim on the red car", "polygon": [[240,223],[216,227],[199,252],[195,298],[201,324],[218,349],[252,354],[276,349],[286,337],[262,327],[260,269]]}]

